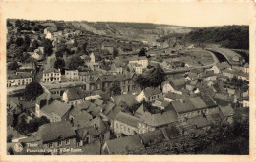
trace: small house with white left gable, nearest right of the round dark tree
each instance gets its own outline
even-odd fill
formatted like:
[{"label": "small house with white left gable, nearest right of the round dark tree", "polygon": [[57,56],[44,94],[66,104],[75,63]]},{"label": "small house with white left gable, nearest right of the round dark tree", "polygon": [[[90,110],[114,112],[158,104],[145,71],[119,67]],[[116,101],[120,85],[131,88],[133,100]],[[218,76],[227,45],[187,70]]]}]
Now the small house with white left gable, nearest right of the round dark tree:
[{"label": "small house with white left gable, nearest right of the round dark tree", "polygon": [[83,102],[86,96],[87,93],[85,90],[79,87],[75,87],[65,90],[62,96],[62,100],[70,105],[76,105]]}]

